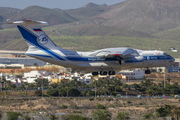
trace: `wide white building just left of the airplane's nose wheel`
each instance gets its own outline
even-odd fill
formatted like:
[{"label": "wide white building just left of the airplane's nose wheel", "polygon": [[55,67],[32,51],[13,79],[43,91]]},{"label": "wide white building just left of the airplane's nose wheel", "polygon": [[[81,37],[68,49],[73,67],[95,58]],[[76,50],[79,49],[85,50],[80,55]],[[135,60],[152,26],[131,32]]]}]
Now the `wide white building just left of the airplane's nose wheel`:
[{"label": "wide white building just left of the airplane's nose wheel", "polygon": [[117,72],[116,74],[121,74],[122,76],[125,76],[126,80],[140,80],[140,79],[144,79],[145,76],[145,72],[142,70],[123,70],[120,72]]}]

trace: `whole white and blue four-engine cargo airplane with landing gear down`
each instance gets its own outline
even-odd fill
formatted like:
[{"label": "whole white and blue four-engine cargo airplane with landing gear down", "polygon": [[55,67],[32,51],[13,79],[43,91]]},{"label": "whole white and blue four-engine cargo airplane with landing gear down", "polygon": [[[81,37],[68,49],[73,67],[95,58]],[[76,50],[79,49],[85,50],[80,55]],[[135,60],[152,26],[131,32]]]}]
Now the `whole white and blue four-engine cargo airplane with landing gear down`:
[{"label": "whole white and blue four-engine cargo airplane with landing gear down", "polygon": [[26,43],[29,46],[25,53],[28,56],[48,63],[89,71],[93,75],[115,75],[115,71],[129,68],[167,67],[175,59],[163,51],[139,50],[127,47],[107,48],[89,52],[65,50],[58,47],[41,29],[47,25],[44,21],[15,21]]}]

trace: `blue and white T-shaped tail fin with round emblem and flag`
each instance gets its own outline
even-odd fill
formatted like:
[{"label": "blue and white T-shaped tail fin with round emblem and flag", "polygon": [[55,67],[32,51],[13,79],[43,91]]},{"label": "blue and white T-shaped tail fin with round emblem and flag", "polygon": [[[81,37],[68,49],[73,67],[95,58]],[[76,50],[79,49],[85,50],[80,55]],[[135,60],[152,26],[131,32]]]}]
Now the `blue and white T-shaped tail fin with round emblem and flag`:
[{"label": "blue and white T-shaped tail fin with round emblem and flag", "polygon": [[[44,21],[15,21],[7,24],[16,24],[29,47],[38,49],[57,49],[57,46],[41,29],[42,25],[48,25]],[[59,47],[58,47],[59,49]]]}]

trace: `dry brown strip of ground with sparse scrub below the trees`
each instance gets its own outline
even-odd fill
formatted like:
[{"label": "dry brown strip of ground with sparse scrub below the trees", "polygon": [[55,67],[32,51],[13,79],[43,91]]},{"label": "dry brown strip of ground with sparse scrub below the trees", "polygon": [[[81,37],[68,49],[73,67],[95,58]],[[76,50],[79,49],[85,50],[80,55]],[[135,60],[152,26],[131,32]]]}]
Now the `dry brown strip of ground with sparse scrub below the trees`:
[{"label": "dry brown strip of ground with sparse scrub below the trees", "polygon": [[[127,102],[128,101],[128,102]],[[104,105],[115,118],[118,112],[127,111],[130,118],[139,119],[141,115],[155,112],[165,104],[179,105],[179,99],[174,98],[32,98],[32,99],[0,99],[1,112],[18,111],[33,113],[33,111],[52,113],[80,114],[92,117],[92,112],[97,110],[97,104]],[[68,106],[67,109],[62,105]],[[37,114],[36,113],[36,114]],[[60,116],[59,116],[60,117]]]}]

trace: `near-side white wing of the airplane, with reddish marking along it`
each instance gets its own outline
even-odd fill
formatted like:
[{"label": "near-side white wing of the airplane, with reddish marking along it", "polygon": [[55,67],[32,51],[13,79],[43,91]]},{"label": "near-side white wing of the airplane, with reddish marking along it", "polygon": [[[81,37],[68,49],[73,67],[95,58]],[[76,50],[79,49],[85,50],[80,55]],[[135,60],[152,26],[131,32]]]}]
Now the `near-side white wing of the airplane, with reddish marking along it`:
[{"label": "near-side white wing of the airplane, with reddish marking along it", "polygon": [[96,57],[118,57],[125,58],[126,56],[134,53],[133,49],[125,49],[122,51],[100,51],[96,54]]}]

